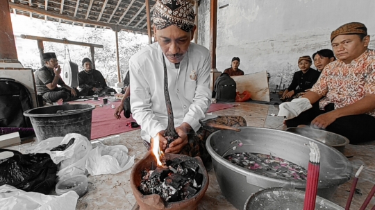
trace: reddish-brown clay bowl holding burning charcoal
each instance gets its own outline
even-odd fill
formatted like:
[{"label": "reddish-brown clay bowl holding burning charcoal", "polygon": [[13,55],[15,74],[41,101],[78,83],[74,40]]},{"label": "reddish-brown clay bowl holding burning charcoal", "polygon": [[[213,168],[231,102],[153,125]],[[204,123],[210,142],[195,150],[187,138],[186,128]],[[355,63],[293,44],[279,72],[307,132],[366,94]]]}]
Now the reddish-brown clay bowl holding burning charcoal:
[{"label": "reddish-brown clay bowl holding burning charcoal", "polygon": [[197,192],[192,198],[181,200],[179,202],[165,202],[160,195],[143,195],[139,190],[140,182],[142,181],[141,173],[144,168],[151,168],[151,164],[156,166],[155,157],[151,154],[151,151],[147,152],[144,157],[134,165],[131,170],[131,189],[133,191],[135,200],[137,200],[140,210],[159,210],[159,209],[184,209],[184,210],[195,210],[197,209],[198,203],[203,198],[204,193],[208,188],[208,174],[206,168],[200,157],[189,157],[186,155],[175,155],[165,154],[165,159],[179,159],[185,161],[194,161],[199,165],[199,173],[203,174],[203,182],[201,190]]}]

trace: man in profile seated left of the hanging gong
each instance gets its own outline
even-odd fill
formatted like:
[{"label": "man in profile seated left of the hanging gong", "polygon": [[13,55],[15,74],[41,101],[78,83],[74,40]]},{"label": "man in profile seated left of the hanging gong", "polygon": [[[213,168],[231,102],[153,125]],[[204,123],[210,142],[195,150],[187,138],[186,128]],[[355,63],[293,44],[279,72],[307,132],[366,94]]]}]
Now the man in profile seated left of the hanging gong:
[{"label": "man in profile seated left of the hanging gong", "polygon": [[[35,71],[35,85],[38,95],[49,103],[60,99],[64,101],[76,100],[78,90],[69,87],[60,78],[60,65],[55,53],[43,53],[44,67]],[[60,87],[58,87],[60,85]]]}]

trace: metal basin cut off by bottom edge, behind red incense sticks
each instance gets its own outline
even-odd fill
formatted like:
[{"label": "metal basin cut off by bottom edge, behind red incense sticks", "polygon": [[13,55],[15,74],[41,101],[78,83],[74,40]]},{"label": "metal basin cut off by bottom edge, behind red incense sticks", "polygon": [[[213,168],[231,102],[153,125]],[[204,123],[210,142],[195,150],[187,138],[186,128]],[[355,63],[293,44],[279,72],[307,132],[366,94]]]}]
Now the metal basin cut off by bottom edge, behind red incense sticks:
[{"label": "metal basin cut off by bottom edge, behind red incense sticks", "polygon": [[[297,189],[270,188],[258,191],[249,197],[244,205],[244,210],[263,209],[263,210],[301,210],[305,192]],[[315,209],[324,210],[342,210],[340,207],[329,200],[317,196]]]}]

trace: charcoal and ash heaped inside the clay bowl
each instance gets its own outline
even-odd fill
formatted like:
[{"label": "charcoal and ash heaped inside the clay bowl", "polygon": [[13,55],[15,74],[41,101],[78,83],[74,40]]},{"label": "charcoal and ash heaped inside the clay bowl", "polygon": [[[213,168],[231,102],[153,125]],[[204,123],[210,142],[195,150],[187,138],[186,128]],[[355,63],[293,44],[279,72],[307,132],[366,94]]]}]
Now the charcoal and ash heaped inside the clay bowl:
[{"label": "charcoal and ash heaped inside the clay bowl", "polygon": [[166,202],[178,202],[192,198],[200,189],[203,174],[198,164],[175,158],[167,160],[167,166],[142,171],[138,189],[144,195],[158,194]]}]

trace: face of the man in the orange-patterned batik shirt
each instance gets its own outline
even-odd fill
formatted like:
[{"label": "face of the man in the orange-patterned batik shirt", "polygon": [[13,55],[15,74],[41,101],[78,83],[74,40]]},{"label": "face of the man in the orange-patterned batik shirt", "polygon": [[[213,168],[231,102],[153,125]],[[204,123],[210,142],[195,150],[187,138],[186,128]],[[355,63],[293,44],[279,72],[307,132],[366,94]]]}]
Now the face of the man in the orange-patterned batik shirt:
[{"label": "face of the man in the orange-patterned batik shirt", "polygon": [[336,58],[349,64],[367,50],[369,36],[360,39],[358,35],[338,35],[332,40],[332,49]]}]

